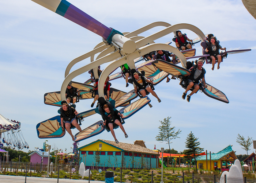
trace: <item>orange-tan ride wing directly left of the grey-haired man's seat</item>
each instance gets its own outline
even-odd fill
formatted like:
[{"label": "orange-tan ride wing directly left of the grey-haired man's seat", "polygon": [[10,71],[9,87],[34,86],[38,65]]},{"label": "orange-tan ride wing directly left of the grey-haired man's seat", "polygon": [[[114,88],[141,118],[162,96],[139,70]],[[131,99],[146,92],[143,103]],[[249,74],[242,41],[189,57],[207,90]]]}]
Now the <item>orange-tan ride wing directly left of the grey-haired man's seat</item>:
[{"label": "orange-tan ride wing directly left of the grey-haired man's seat", "polygon": [[172,63],[163,61],[161,59],[157,59],[154,62],[152,62],[152,65],[157,67],[158,69],[161,69],[165,71],[166,73],[174,76],[174,77],[179,77],[180,75],[190,75],[191,72],[183,67],[174,65]]}]

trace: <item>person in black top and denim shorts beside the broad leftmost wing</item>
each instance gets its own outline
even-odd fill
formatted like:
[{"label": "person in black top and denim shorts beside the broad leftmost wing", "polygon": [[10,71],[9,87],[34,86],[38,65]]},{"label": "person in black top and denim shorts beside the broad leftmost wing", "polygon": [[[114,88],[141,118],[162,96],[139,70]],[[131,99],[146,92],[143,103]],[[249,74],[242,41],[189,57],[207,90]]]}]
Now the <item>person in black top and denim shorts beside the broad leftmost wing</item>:
[{"label": "person in black top and denim shorts beside the broad leftmost wing", "polygon": [[61,128],[64,130],[64,128],[67,130],[69,135],[71,135],[72,140],[74,141],[74,135],[71,132],[71,124],[75,126],[79,132],[82,131],[80,125],[77,122],[76,114],[78,112],[75,110],[75,108],[69,106],[66,101],[61,102],[61,108],[60,108],[60,121],[61,121]]}]

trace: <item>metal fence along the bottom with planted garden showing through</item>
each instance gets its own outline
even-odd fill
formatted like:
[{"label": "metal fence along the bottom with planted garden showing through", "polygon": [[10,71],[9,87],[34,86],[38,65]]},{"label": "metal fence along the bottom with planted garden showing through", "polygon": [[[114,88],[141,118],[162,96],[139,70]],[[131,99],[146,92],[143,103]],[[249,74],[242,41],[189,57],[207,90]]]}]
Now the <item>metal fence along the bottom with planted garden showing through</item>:
[{"label": "metal fence along the bottom with planted garden showing through", "polygon": [[[38,165],[39,166],[39,165]],[[25,183],[256,183],[256,179],[235,178],[220,175],[201,175],[179,172],[164,173],[154,170],[122,170],[115,172],[91,169],[80,169],[79,166],[57,166],[49,168],[30,164],[1,166],[0,181]]]}]

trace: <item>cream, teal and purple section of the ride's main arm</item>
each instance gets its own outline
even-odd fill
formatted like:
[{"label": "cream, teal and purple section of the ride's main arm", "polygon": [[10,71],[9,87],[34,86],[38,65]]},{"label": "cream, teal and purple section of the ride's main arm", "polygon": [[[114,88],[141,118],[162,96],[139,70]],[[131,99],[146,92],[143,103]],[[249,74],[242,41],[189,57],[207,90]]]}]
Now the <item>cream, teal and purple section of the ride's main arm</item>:
[{"label": "cream, teal and purple section of the ride's main arm", "polygon": [[111,29],[66,0],[32,0],[43,7],[107,39]]}]

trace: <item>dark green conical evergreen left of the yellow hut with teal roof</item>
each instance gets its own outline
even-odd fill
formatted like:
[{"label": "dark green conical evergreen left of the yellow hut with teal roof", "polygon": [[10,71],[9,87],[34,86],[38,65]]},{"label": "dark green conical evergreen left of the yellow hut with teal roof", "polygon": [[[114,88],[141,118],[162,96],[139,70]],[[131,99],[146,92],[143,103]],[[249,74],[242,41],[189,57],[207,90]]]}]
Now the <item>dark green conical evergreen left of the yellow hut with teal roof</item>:
[{"label": "dark green conical evergreen left of the yellow hut with teal roof", "polygon": [[[196,138],[194,136],[194,134],[192,132],[190,132],[188,134],[188,137],[186,139],[187,141],[185,142],[185,147],[188,148],[186,150],[184,150],[184,154],[188,157],[188,156],[192,156],[195,159],[196,162],[196,157],[199,156],[199,153],[202,153],[204,151],[204,148],[200,148],[200,142],[198,142],[198,138]],[[197,172],[197,163],[196,164],[196,172]]]}]

